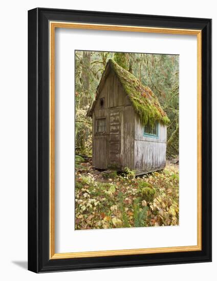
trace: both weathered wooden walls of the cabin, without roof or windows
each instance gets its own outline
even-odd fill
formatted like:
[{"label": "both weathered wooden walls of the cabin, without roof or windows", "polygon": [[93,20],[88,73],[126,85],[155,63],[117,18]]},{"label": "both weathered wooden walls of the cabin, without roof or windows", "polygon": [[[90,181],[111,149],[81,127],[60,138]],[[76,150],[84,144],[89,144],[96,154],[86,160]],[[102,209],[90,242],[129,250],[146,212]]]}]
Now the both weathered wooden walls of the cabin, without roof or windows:
[{"label": "both weathered wooden walls of the cabin, without roof or windows", "polygon": [[[125,167],[137,174],[159,170],[166,165],[166,126],[159,124],[158,138],[144,136],[118,78],[107,75],[93,110],[93,166],[97,169]],[[104,98],[103,107],[100,99]],[[106,131],[96,133],[96,119],[106,118]]]}]

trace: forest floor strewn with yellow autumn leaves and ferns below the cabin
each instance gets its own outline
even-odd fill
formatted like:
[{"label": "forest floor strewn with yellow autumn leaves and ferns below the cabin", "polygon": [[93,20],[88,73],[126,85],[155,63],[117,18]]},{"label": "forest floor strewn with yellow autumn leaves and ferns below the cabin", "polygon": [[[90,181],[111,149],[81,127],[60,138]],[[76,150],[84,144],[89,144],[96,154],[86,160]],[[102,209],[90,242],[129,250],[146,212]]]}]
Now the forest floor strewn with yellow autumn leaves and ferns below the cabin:
[{"label": "forest floor strewn with yellow autumn leaves and ferns below the cabin", "polygon": [[126,170],[97,171],[76,156],[75,229],[179,224],[179,165],[135,177]]}]

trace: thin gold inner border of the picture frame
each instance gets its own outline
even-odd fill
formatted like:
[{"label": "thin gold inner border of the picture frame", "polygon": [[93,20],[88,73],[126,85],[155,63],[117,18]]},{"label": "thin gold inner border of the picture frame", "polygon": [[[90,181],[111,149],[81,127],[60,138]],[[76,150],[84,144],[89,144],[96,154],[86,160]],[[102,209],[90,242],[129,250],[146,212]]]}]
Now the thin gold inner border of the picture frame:
[{"label": "thin gold inner border of the picture frame", "polygon": [[[75,257],[93,257],[93,256],[112,256],[112,255],[130,255],[130,254],[147,254],[147,253],[166,253],[166,252],[183,252],[202,250],[202,31],[190,29],[172,29],[172,28],[154,28],[154,27],[136,27],[136,26],[118,26],[118,25],[99,25],[99,24],[81,24],[77,22],[50,21],[50,259],[72,259]],[[161,248],[144,248],[144,249],[125,249],[125,250],[104,250],[89,252],[68,252],[55,253],[55,29],[72,28],[72,29],[93,29],[93,30],[113,30],[127,32],[145,32],[145,33],[163,33],[163,34],[182,34],[197,35],[197,245],[195,246],[178,246],[178,247],[161,247]]]}]

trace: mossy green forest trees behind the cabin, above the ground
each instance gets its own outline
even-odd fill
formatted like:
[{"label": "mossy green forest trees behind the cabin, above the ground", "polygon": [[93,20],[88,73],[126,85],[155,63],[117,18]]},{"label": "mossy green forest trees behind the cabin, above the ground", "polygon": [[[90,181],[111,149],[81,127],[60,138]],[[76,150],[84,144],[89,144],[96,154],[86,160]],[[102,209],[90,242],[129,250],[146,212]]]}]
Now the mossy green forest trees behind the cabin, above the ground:
[{"label": "mossy green forest trees behind the cabin, above the ground", "polygon": [[170,119],[167,158],[179,156],[179,56],[164,54],[75,51],[76,154],[92,156],[92,119],[86,112],[108,59],[114,59],[148,86]]}]

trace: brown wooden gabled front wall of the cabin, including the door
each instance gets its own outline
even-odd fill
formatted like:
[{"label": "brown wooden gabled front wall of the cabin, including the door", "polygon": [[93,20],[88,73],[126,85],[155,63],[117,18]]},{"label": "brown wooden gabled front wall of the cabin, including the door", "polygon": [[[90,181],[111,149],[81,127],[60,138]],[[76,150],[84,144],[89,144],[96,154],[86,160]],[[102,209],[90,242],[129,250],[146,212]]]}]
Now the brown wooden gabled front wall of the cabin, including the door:
[{"label": "brown wooden gabled front wall of the cabin, including the door", "polygon": [[[103,108],[100,106],[100,99],[104,98]],[[126,109],[131,105],[129,99],[123,92],[122,86],[118,78],[110,72],[104,85],[99,90],[99,95],[93,111],[93,166],[97,169],[107,169],[115,167],[122,169],[124,165],[124,130],[128,131],[128,127],[124,129],[125,116],[128,118],[131,110]],[[96,119],[106,118],[106,132],[96,133]],[[127,122],[133,122],[134,117]],[[134,125],[133,125],[134,127]],[[132,135],[132,128],[129,134]],[[133,131],[134,132],[134,131]],[[129,142],[129,136],[126,137],[128,147],[132,148]],[[128,159],[127,163],[133,164],[132,159]],[[128,167],[128,166],[127,166]],[[130,167],[129,167],[130,168]]]}]

